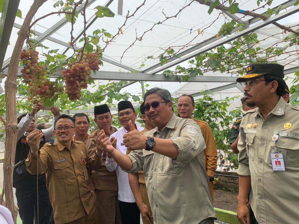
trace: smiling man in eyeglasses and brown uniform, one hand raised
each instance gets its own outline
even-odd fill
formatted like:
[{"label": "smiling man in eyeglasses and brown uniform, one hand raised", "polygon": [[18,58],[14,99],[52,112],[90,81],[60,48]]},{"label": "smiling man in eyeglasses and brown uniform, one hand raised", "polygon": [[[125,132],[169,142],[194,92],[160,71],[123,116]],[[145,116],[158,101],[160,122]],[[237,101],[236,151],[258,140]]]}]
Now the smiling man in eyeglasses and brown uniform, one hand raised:
[{"label": "smiling man in eyeglasses and brown uniform, one hand raised", "polygon": [[[87,168],[92,164],[86,145],[72,139],[75,134],[74,119],[65,114],[59,116],[54,123],[53,133],[56,142],[46,143],[39,149],[39,139],[43,133],[37,129],[30,132],[26,139],[30,146],[25,161],[27,170],[32,175],[46,173],[56,224],[98,223],[96,196],[90,191],[87,183]],[[94,159],[99,159],[92,166],[92,169],[97,170],[100,168],[102,157]]]}]

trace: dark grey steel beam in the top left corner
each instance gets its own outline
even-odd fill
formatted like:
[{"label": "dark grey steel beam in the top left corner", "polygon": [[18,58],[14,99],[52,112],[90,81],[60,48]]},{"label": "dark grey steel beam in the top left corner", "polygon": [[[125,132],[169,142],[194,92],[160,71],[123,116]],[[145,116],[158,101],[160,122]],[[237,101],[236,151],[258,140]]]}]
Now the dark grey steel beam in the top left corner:
[{"label": "dark grey steel beam in the top left corner", "polygon": [[0,70],[3,65],[7,45],[13,29],[13,22],[19,7],[20,0],[4,1],[2,8],[2,17],[0,20]]}]

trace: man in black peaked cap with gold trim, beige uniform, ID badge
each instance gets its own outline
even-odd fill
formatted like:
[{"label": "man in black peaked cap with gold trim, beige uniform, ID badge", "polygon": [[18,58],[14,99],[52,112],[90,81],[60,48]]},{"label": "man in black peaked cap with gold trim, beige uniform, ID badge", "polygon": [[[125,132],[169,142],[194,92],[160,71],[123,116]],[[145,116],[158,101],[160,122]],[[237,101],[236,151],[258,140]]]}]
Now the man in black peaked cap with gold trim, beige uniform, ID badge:
[{"label": "man in black peaked cap with gold trim, beige uniform, ID badge", "polygon": [[257,108],[246,112],[240,124],[237,217],[240,223],[250,223],[246,198],[251,187],[258,223],[298,223],[299,107],[281,97],[282,65],[253,64],[245,70],[237,82],[242,82],[247,105]]}]

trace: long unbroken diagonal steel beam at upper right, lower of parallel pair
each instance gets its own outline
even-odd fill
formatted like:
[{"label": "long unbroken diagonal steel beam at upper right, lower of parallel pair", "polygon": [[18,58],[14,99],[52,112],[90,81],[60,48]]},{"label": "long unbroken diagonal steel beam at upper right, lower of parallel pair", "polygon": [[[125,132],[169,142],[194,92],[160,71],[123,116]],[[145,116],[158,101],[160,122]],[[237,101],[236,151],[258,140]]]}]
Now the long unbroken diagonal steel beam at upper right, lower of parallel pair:
[{"label": "long unbroken diagonal steel beam at upper right, lower of parallel pair", "polygon": [[223,39],[223,40],[215,43],[212,46],[204,47],[204,48],[202,48],[199,51],[196,51],[196,52],[193,52],[193,53],[189,54],[188,56],[185,56],[183,58],[177,59],[174,62],[167,63],[167,64],[165,64],[165,66],[162,66],[162,67],[160,67],[160,68],[152,71],[152,73],[155,74],[155,73],[161,72],[161,71],[163,71],[163,70],[165,70],[167,68],[170,68],[170,67],[172,67],[174,65],[177,65],[177,64],[179,64],[181,62],[184,62],[184,61],[186,61],[186,60],[188,60],[190,58],[193,58],[193,57],[195,57],[195,56],[197,56],[197,55],[199,55],[201,53],[204,53],[204,52],[207,52],[209,50],[212,50],[215,47],[219,47],[220,45],[223,45],[223,44],[225,44],[227,42],[230,42],[230,41],[232,41],[234,39],[237,39],[237,38],[239,38],[241,36],[244,36],[245,34],[251,33],[254,30],[260,29],[260,28],[262,28],[262,27],[264,27],[264,26],[266,26],[268,24],[276,22],[276,21],[278,21],[280,19],[283,19],[283,18],[285,18],[287,16],[290,16],[290,15],[292,15],[294,13],[297,13],[297,12],[299,12],[299,6],[295,6],[295,7],[291,8],[291,9],[289,9],[289,10],[283,12],[283,13],[280,13],[280,14],[278,14],[276,16],[271,17],[270,19],[264,20],[264,21],[262,21],[262,22],[260,22],[260,23],[258,23],[256,25],[254,25],[252,27],[249,27],[249,28],[247,28],[245,30],[242,30],[239,33],[235,33],[234,35],[231,35],[231,36],[227,37],[226,39]]}]

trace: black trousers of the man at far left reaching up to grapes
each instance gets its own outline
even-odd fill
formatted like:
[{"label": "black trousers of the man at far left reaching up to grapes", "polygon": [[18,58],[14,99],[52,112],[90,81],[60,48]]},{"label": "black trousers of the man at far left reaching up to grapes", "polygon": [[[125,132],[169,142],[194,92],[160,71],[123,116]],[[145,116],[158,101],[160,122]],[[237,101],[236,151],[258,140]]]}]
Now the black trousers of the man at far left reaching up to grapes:
[{"label": "black trousers of the man at far left reaching up to grapes", "polygon": [[[52,206],[49,199],[49,192],[46,186],[39,187],[38,191],[39,205],[39,224],[49,224]],[[34,187],[16,188],[17,205],[23,224],[33,224],[37,220],[37,189]]]}]

